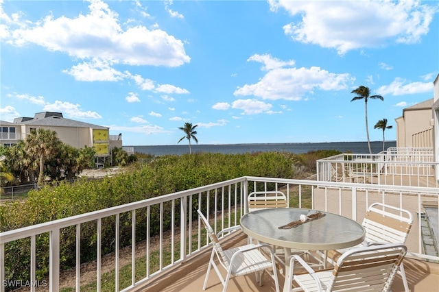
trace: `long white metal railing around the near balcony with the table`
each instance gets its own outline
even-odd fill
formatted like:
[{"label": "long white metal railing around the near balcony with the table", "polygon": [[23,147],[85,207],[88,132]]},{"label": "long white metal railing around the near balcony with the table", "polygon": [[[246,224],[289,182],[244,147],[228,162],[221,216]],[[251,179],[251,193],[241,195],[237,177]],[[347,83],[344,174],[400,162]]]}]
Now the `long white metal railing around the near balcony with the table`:
[{"label": "long white metal railing around the near balcony with the table", "polygon": [[[202,225],[197,221],[196,210],[202,209],[208,219],[213,219],[215,233],[230,226],[237,226],[239,218],[246,213],[246,197],[252,191],[283,191],[289,199],[290,207],[297,208],[316,208],[334,212],[345,217],[350,217],[361,222],[362,216],[366,212],[367,206],[372,202],[383,202],[410,210],[416,221],[409,235],[409,251],[421,258],[439,260],[438,256],[427,256],[423,254],[423,238],[421,228],[421,213],[423,212],[423,202],[439,201],[439,188],[420,188],[414,186],[384,186],[372,184],[356,184],[344,182],[322,182],[314,180],[288,180],[282,178],[256,178],[243,177],[193,188],[186,191],[161,195],[140,202],[133,202],[122,206],[97,210],[82,215],[41,223],[16,230],[2,232],[0,234],[0,283],[8,283],[10,280],[5,278],[5,256],[11,260],[15,256],[14,250],[8,244],[21,239],[29,239],[29,271],[30,283],[36,282],[36,236],[49,233],[49,280],[47,282],[49,291],[59,291],[60,289],[60,234],[65,228],[75,231],[75,256],[76,258],[76,291],[80,291],[80,255],[83,248],[81,246],[81,228],[88,222],[95,224],[97,234],[96,243],[96,291],[102,291],[102,242],[115,241],[115,290],[116,291],[135,291],[141,284],[149,280],[160,277],[165,271],[177,264],[183,263],[192,256],[198,254],[209,245],[206,238],[202,238]],[[243,204],[244,203],[244,204]],[[170,214],[171,219],[167,220],[165,214]],[[121,219],[128,216],[129,219]],[[142,220],[137,219],[141,217]],[[102,228],[106,219],[114,219],[115,234],[113,238],[103,238]],[[121,222],[121,220],[125,220]],[[127,221],[128,220],[128,221]],[[137,263],[139,258],[136,256],[136,244],[131,245],[132,258],[130,269],[132,271],[129,284],[123,285],[119,273],[119,257],[121,246],[121,229],[129,226],[131,230],[131,242],[138,243],[139,228],[145,232],[145,273],[139,279],[136,276]],[[169,229],[169,230],[168,230]],[[152,251],[151,238],[153,230],[157,231],[158,251]],[[163,234],[170,232],[171,241],[165,243]],[[410,238],[410,236],[412,238]],[[24,243],[23,243],[24,244]],[[180,246],[179,248],[176,246]],[[170,258],[166,258],[166,250],[170,250]],[[8,254],[12,253],[12,254]],[[153,261],[158,262],[158,267],[153,267]],[[38,279],[40,280],[40,279]],[[1,285],[0,291],[5,291],[5,285]],[[35,291],[35,287],[30,287],[30,291]]]}]

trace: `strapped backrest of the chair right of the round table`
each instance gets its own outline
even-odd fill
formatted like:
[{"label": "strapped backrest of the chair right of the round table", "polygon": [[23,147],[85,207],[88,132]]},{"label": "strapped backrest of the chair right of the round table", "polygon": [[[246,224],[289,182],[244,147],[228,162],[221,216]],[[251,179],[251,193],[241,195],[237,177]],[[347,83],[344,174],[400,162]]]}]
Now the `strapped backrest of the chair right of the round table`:
[{"label": "strapped backrest of the chair right of the round table", "polygon": [[374,203],[366,211],[363,227],[365,241],[377,243],[405,243],[412,227],[412,213],[390,205]]}]

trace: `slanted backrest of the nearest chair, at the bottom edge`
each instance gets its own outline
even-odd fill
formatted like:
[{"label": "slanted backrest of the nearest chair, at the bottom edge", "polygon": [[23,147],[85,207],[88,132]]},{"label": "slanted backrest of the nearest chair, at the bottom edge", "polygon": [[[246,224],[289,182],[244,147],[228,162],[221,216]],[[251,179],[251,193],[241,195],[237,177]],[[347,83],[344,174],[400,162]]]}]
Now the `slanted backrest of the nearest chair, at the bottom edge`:
[{"label": "slanted backrest of the nearest chair, at the bottom edge", "polygon": [[406,253],[402,243],[348,250],[337,260],[327,291],[390,291]]}]

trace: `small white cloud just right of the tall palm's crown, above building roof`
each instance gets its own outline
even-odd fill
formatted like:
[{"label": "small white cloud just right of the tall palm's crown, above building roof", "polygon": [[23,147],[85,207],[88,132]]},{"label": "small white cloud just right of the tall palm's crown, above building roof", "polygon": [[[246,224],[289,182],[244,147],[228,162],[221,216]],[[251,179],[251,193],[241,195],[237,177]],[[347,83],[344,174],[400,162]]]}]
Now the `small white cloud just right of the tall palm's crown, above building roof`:
[{"label": "small white cloud just right of the tall palm's crown, above building roof", "polygon": [[412,82],[406,83],[402,78],[395,78],[389,85],[383,85],[377,89],[379,95],[412,95],[415,93],[433,92],[433,83],[431,82]]}]

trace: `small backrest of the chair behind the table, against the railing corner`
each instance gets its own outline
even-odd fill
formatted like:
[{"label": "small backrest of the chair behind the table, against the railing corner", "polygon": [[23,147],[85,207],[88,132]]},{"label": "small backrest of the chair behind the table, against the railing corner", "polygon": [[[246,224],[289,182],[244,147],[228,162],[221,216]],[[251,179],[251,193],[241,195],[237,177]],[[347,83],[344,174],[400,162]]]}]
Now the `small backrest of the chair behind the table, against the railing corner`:
[{"label": "small backrest of the chair behind the table, against the railing corner", "polygon": [[248,194],[248,212],[265,208],[287,208],[287,196],[281,191],[260,191]]}]

